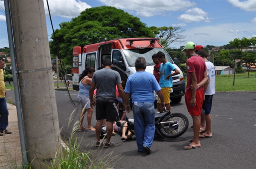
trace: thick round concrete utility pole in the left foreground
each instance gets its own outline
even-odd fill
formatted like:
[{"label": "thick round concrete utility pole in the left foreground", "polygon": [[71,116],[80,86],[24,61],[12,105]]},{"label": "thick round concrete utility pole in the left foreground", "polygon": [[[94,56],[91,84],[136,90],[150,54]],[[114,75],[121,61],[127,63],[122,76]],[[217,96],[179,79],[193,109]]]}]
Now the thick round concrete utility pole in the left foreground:
[{"label": "thick round concrete utility pole in the left foreground", "polygon": [[47,168],[61,138],[44,0],[10,0],[26,149],[35,168]]}]

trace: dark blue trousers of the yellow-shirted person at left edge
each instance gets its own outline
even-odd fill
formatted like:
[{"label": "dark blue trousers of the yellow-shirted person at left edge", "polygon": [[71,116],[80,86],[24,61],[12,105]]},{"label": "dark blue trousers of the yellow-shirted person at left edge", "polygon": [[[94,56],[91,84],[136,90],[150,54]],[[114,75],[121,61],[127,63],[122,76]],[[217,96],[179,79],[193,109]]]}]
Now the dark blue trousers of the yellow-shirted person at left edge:
[{"label": "dark blue trousers of the yellow-shirted person at left edge", "polygon": [[5,98],[0,98],[0,132],[6,130],[8,126],[8,107]]}]

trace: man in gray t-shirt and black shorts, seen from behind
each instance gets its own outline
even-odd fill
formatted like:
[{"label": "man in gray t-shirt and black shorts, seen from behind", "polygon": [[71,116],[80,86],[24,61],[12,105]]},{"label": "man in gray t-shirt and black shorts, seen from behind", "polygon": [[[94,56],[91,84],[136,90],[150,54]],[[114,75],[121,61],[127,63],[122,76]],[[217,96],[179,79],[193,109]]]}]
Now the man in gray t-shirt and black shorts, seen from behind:
[{"label": "man in gray t-shirt and black shorts, seen from behind", "polygon": [[104,59],[102,62],[102,67],[103,69],[97,70],[93,74],[89,95],[90,107],[94,109],[95,102],[93,102],[93,91],[96,87],[96,146],[99,147],[104,144],[104,142],[100,141],[100,135],[102,130],[102,122],[104,119],[107,119],[107,138],[105,147],[108,148],[115,144],[110,142],[113,131],[113,121],[119,121],[116,86],[119,91],[119,96],[121,96],[122,99],[124,99],[124,90],[122,88],[122,82],[119,73],[111,69],[111,60]]}]

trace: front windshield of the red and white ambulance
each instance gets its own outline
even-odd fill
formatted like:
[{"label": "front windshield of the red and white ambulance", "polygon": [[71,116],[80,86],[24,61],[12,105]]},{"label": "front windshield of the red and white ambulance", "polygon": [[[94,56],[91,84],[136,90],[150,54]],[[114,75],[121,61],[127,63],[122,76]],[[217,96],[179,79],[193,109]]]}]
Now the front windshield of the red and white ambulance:
[{"label": "front windshield of the red and white ambulance", "polygon": [[136,49],[124,49],[123,53],[131,67],[135,66],[135,60],[138,57],[144,57],[146,59],[147,66],[154,65],[152,60],[152,55],[157,54],[157,52],[162,51],[165,54],[167,61],[173,63],[169,54],[164,50],[164,48],[136,48]]}]

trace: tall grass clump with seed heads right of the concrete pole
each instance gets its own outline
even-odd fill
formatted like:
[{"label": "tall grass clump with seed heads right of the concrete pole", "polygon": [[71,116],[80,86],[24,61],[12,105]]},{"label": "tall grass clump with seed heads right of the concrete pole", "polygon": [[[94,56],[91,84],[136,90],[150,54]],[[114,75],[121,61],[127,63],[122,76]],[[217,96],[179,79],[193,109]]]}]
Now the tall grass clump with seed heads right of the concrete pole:
[{"label": "tall grass clump with seed heads right of the concrete pole", "polygon": [[[71,124],[76,109],[70,115],[67,128]],[[113,151],[103,153],[101,147],[96,150],[90,149],[96,145],[94,142],[88,144],[86,150],[81,150],[82,139],[79,141],[79,138],[75,137],[78,129],[79,121],[76,121],[69,138],[70,145],[62,151],[60,157],[58,157],[58,152],[56,153],[52,166],[48,166],[49,169],[106,169],[122,158],[120,155],[112,156]]]}]

